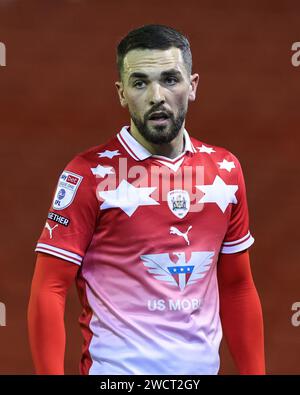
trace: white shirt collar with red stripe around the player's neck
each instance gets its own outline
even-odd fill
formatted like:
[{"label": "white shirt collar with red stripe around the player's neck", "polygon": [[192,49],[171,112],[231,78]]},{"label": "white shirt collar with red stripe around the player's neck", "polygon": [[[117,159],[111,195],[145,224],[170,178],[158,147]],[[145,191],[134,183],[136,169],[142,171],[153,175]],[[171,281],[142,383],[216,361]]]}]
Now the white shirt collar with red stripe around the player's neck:
[{"label": "white shirt collar with red stripe around the player's neck", "polygon": [[[135,160],[144,160],[153,156],[151,152],[149,152],[144,146],[142,146],[130,133],[130,126],[123,126],[121,131],[117,134],[117,137],[122,144],[122,146],[126,149],[126,151],[131,155]],[[184,137],[184,152],[192,152],[195,153],[196,149],[190,139],[190,136],[186,129],[183,130]],[[180,154],[182,155],[182,153]],[[176,158],[175,158],[176,159]]]}]

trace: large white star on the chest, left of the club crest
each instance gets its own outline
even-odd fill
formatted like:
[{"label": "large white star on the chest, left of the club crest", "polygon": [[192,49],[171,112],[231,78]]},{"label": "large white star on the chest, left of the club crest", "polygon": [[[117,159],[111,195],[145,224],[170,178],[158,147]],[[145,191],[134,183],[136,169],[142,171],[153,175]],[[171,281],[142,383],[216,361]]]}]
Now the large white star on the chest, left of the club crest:
[{"label": "large white star on the chest, left of the club crest", "polygon": [[100,209],[119,207],[131,217],[139,206],[159,205],[149,196],[155,189],[156,187],[136,188],[126,180],[122,180],[117,189],[99,192],[99,196],[104,199]]}]

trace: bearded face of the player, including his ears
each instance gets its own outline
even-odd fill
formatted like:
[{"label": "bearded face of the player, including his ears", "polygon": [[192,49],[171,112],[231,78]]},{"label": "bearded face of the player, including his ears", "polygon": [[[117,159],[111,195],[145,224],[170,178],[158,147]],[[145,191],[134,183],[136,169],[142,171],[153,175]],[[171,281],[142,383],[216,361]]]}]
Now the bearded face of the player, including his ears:
[{"label": "bearded face of the player, including his ears", "polygon": [[124,58],[123,82],[116,86],[138,132],[150,143],[163,144],[181,130],[198,79],[198,74],[188,75],[179,48],[132,50]]}]

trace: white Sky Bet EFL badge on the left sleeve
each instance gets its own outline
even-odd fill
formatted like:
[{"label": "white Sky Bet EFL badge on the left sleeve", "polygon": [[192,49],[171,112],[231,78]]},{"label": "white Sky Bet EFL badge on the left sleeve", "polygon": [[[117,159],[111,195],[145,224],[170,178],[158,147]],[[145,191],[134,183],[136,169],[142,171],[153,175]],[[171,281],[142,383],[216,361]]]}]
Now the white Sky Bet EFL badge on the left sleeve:
[{"label": "white Sky Bet EFL badge on the left sleeve", "polygon": [[58,180],[52,207],[55,210],[62,210],[70,206],[81,181],[82,177],[78,174],[64,171]]}]

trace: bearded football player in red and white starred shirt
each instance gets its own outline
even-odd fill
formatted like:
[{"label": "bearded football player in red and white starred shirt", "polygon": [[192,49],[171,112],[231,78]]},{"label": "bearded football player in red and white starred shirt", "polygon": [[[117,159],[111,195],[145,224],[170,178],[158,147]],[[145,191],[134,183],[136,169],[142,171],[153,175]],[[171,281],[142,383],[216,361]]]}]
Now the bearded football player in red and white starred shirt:
[{"label": "bearded football player in red and white starred shirt", "polygon": [[28,307],[37,374],[64,374],[64,307],[82,304],[80,374],[218,374],[222,334],[240,374],[265,374],[239,160],[185,128],[199,75],[188,39],[145,25],[117,47],[130,125],[61,173]]}]

